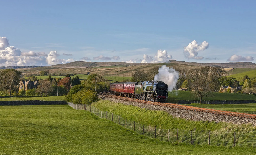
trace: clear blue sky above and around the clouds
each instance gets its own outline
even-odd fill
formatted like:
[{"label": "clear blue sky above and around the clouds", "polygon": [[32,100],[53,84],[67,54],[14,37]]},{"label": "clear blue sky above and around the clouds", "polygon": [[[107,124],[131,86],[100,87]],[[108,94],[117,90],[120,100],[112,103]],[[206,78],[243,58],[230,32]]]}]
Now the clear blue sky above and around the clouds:
[{"label": "clear blue sky above and around the clouds", "polygon": [[[227,62],[236,55],[229,61],[255,63],[255,3],[2,1],[0,37],[6,37],[9,46],[15,46],[23,53],[45,52],[47,57],[50,51],[56,51],[54,59],[57,60],[78,61],[87,57],[90,60],[86,61],[92,62],[137,59],[140,63],[146,54],[146,62],[153,62],[158,61],[154,56],[161,49],[178,61]],[[192,53],[198,54],[188,59],[184,47],[193,40],[196,46],[204,41],[208,46],[204,50],[192,49]],[[100,55],[103,59],[98,57]],[[94,57],[98,59],[94,60]],[[40,63],[54,64],[44,61],[43,58]]]}]

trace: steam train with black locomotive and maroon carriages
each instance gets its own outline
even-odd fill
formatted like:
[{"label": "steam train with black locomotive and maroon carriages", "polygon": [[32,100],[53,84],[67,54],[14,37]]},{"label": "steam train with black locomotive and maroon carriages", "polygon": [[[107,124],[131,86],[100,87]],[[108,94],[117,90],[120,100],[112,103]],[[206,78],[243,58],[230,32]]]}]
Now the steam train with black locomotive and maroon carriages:
[{"label": "steam train with black locomotive and maroon carriages", "polygon": [[110,93],[117,96],[165,103],[168,85],[163,81],[117,82],[111,83]]}]

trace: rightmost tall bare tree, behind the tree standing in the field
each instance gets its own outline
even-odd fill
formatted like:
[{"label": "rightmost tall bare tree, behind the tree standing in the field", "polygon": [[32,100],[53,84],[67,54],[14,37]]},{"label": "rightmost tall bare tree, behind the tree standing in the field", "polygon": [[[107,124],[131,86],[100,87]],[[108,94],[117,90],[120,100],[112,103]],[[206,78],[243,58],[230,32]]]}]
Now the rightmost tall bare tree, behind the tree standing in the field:
[{"label": "rightmost tall bare tree, behind the tree standing in the field", "polygon": [[226,75],[226,71],[223,67],[211,67],[210,73],[210,87],[214,92],[218,92],[220,88],[221,78]]}]

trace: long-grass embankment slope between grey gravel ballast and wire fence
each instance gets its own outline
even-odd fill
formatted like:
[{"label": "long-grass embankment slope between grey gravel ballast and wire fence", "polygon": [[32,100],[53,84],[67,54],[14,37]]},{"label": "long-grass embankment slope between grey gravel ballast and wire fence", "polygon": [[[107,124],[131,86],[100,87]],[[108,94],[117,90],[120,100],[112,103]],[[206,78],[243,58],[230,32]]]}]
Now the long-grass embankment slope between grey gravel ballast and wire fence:
[{"label": "long-grass embankment slope between grey gravel ballast and wire fence", "polygon": [[165,111],[154,111],[145,108],[140,108],[131,105],[124,105],[108,100],[99,100],[92,104],[102,111],[108,111],[116,115],[120,115],[128,120],[134,120],[140,124],[147,126],[156,126],[162,129],[181,129],[181,130],[195,130],[195,131],[255,131],[256,127],[252,124],[236,125],[225,122],[209,122],[209,121],[191,121],[182,118],[173,117]]}]

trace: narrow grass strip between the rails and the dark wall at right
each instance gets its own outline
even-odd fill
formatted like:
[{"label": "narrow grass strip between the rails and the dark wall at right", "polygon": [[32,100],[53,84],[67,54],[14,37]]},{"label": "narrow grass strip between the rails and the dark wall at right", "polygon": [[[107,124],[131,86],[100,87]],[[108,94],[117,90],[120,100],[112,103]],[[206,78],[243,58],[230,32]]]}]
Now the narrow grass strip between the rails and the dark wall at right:
[{"label": "narrow grass strip between the rails and the dark wall at right", "polygon": [[188,106],[195,106],[201,108],[208,109],[217,109],[217,110],[225,110],[225,111],[233,111],[233,112],[241,112],[241,113],[250,113],[256,114],[256,103],[250,104],[197,104],[191,103]]}]

